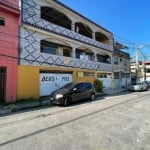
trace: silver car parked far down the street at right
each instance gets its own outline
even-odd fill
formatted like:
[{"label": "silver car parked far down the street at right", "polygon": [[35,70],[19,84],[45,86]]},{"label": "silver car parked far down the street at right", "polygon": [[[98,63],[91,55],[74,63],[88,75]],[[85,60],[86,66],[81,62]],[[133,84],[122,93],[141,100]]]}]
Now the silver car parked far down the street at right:
[{"label": "silver car parked far down the street at right", "polygon": [[129,91],[146,91],[148,90],[148,84],[145,81],[132,83],[128,87]]}]

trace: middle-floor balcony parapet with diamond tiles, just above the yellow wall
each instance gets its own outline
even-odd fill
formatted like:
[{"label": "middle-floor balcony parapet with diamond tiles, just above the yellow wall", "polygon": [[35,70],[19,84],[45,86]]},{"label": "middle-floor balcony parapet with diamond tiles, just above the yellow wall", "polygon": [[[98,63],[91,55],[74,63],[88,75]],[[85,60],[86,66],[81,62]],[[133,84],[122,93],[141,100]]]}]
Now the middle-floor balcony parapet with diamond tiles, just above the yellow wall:
[{"label": "middle-floor balcony parapet with diamond tiles, just above the yellow wall", "polygon": [[80,68],[80,69],[90,69],[99,71],[112,71],[112,65],[85,61],[77,58],[64,57],[59,55],[45,54],[45,53],[34,53],[34,55],[27,55],[25,51],[21,53],[24,58],[21,59],[21,65],[34,65],[34,66],[57,66],[57,67],[70,67],[70,68]]}]

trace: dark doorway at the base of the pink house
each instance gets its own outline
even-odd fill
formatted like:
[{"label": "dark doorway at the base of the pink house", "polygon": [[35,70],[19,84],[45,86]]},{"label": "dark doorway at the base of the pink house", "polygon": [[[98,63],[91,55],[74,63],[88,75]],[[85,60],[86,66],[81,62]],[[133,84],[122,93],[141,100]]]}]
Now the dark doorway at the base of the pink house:
[{"label": "dark doorway at the base of the pink house", "polygon": [[4,102],[6,89],[6,68],[0,67],[0,103]]}]

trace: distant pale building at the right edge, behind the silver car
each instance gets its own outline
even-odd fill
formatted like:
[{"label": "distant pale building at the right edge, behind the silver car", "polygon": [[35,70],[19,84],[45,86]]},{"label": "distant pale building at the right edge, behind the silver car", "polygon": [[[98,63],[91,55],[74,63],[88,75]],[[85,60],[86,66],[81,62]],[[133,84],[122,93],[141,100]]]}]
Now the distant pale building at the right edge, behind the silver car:
[{"label": "distant pale building at the right edge, behind the silver car", "polygon": [[136,81],[150,81],[150,61],[131,61],[131,80]]}]

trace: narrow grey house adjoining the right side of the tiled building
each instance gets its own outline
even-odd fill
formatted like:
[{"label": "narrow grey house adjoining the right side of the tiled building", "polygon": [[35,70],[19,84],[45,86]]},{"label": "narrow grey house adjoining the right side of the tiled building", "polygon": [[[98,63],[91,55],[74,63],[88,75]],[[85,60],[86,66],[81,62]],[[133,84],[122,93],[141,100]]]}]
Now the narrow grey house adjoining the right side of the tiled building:
[{"label": "narrow grey house adjoining the right side of the tiled building", "polygon": [[126,49],[124,45],[114,42],[113,70],[114,88],[126,87],[131,83],[130,55],[122,51]]}]

